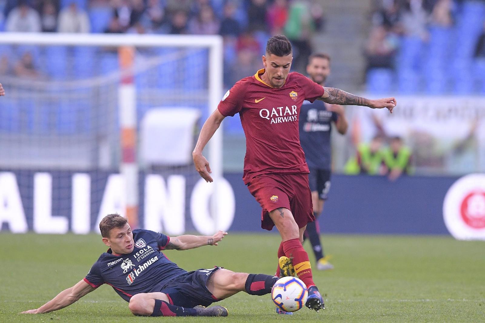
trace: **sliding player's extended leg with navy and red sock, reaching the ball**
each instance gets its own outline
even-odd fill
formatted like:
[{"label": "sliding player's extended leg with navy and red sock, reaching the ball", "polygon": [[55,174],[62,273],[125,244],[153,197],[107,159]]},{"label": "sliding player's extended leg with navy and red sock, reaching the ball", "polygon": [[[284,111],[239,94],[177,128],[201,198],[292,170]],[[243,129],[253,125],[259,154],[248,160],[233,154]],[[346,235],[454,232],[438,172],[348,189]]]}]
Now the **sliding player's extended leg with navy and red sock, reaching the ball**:
[{"label": "sliding player's extended leg with navy and red sock, reaching the ball", "polygon": [[250,295],[269,294],[276,280],[271,275],[235,273],[221,268],[210,275],[206,286],[214,297],[222,300],[240,291]]}]

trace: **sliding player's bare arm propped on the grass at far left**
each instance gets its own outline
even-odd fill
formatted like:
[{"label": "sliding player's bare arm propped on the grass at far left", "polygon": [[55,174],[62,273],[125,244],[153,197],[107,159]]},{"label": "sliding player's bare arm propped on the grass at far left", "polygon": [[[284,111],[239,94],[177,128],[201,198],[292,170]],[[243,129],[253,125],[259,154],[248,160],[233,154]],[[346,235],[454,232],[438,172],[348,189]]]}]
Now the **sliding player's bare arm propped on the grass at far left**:
[{"label": "sliding player's bare arm propped on the grass at far left", "polygon": [[94,290],[95,288],[93,288],[91,285],[86,283],[84,280],[81,280],[73,287],[68,288],[64,291],[61,291],[59,294],[57,294],[56,297],[54,297],[52,300],[50,300],[43,306],[36,309],[29,309],[28,311],[22,312],[21,314],[40,314],[40,313],[49,313],[52,311],[56,311],[58,309],[61,309],[73,304],[74,302],[79,300],[82,296]]}]

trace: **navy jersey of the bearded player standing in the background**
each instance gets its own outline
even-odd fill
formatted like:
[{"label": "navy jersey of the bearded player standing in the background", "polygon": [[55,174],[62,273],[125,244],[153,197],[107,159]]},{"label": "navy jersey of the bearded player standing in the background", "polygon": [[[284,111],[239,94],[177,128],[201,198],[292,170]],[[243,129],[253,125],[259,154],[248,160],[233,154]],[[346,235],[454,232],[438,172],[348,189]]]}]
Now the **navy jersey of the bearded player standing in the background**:
[{"label": "navy jersey of the bearded player standing in the background", "polygon": [[337,118],[337,113],[327,111],[323,101],[303,101],[299,118],[300,144],[308,167],[330,170],[330,131],[332,121],[337,122]]}]

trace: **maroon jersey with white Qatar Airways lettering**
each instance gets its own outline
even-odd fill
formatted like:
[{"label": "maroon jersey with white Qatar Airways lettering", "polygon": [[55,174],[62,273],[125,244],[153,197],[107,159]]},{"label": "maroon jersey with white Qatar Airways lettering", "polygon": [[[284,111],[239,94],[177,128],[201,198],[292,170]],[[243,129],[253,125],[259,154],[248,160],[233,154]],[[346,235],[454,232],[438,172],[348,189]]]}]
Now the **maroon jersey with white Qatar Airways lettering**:
[{"label": "maroon jersey with white Qatar Airways lettering", "polygon": [[304,100],[313,102],[323,87],[300,73],[288,74],[277,89],[254,76],[238,81],[217,107],[225,116],[239,113],[246,135],[246,156],[242,179],[247,184],[261,174],[308,173],[300,145],[298,115]]}]

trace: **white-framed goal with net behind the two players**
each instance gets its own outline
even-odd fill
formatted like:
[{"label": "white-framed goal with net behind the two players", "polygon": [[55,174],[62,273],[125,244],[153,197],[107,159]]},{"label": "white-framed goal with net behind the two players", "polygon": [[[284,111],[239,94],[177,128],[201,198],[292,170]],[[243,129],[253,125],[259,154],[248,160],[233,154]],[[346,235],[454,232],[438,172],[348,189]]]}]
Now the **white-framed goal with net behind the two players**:
[{"label": "white-framed goal with net behind the two players", "polygon": [[215,185],[191,155],[222,63],[219,36],[2,33],[0,229],[84,234],[115,212],[168,234],[227,229],[222,129],[204,152]]}]

